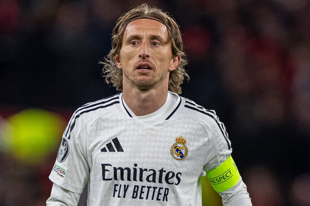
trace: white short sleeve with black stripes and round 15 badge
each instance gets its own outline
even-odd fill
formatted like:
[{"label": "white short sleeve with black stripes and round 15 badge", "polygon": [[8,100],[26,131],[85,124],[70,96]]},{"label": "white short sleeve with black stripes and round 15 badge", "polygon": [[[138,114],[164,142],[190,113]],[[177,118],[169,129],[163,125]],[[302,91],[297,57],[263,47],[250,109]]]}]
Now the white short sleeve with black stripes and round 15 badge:
[{"label": "white short sleeve with black stripes and round 15 badge", "polygon": [[82,193],[89,179],[85,125],[73,115],[62,137],[49,179],[66,190]]}]

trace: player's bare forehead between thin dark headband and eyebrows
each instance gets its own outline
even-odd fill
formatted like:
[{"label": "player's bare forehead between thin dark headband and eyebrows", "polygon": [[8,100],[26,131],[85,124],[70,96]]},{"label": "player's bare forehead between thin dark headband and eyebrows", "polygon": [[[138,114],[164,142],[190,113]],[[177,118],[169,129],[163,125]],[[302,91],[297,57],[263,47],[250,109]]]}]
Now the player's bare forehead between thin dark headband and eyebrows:
[{"label": "player's bare forehead between thin dark headband and eyebrows", "polygon": [[140,35],[147,33],[149,35],[159,35],[164,39],[168,37],[166,26],[153,19],[137,19],[130,22],[125,29],[124,37],[131,35]]}]

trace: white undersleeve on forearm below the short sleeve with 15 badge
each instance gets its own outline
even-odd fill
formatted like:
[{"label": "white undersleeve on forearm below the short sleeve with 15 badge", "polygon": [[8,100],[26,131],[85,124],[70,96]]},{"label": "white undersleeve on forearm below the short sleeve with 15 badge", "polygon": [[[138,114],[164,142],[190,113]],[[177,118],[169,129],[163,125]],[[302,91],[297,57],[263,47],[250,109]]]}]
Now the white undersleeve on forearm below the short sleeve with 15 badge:
[{"label": "white undersleeve on forearm below the short sleeve with 15 badge", "polygon": [[76,206],[78,205],[80,195],[81,194],[66,190],[54,183],[51,196],[46,201],[46,206]]}]

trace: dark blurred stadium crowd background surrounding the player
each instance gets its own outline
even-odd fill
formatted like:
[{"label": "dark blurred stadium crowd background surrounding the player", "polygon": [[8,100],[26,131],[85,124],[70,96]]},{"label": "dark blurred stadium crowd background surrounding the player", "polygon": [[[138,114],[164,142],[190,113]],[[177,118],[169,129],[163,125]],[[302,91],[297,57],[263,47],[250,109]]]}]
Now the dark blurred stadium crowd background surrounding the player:
[{"label": "dark blurred stadium crowd background surrounding the player", "polygon": [[[309,206],[309,1],[143,2],[179,23],[183,96],[226,125],[253,206]],[[1,206],[45,204],[70,116],[116,93],[98,64],[113,26],[143,2],[0,0]],[[203,205],[221,205],[203,181]]]}]

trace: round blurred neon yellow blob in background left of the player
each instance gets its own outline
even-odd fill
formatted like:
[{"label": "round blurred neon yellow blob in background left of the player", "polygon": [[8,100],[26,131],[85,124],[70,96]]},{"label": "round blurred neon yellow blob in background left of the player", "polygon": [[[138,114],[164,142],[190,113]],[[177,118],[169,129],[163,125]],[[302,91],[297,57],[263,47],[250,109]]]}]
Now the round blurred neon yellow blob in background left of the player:
[{"label": "round blurred neon yellow blob in background left of the player", "polygon": [[5,149],[15,158],[36,164],[55,151],[65,127],[60,115],[42,109],[27,109],[8,118],[10,133]]}]

